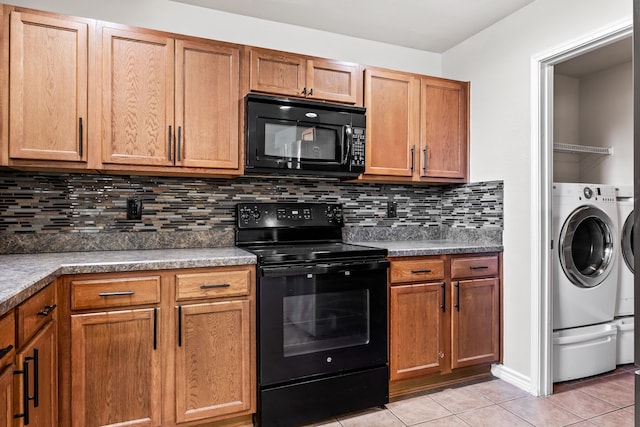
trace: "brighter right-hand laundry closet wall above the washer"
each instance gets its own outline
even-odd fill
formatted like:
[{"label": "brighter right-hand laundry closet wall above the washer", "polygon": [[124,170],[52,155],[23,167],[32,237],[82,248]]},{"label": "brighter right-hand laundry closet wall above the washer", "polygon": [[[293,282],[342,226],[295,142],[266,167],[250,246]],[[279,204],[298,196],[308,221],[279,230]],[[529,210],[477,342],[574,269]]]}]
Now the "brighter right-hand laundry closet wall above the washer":
[{"label": "brighter right-hand laundry closet wall above the washer", "polygon": [[633,69],[631,62],[580,79],[580,140],[613,147],[613,155],[583,155],[580,182],[633,185]]}]

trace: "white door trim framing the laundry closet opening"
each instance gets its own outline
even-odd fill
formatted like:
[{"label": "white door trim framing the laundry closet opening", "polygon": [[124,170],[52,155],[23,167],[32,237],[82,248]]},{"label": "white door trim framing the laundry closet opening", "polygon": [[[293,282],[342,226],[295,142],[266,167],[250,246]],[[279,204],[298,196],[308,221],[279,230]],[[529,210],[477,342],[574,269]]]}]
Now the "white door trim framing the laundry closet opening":
[{"label": "white door trim framing the laundry closet opening", "polygon": [[[564,73],[582,73],[587,66],[602,65],[606,51],[612,51],[621,44],[628,43],[633,32],[631,22],[622,22],[613,27],[591,34],[583,39],[576,40],[566,46],[553,51],[536,55],[532,58],[532,206],[539,216],[532,219],[533,245],[532,265],[540,268],[533,271],[534,283],[538,286],[532,290],[532,366],[531,382],[532,393],[538,396],[553,393],[553,289],[552,289],[552,184],[556,179],[554,163],[558,160],[564,162],[571,159],[562,156],[554,159],[554,144],[556,149],[580,150],[581,144],[571,144],[565,141],[556,141],[559,134],[574,136],[567,129],[564,132],[554,132],[554,80],[556,71]],[[623,47],[624,48],[624,47]],[[600,59],[598,59],[600,58]],[[600,64],[598,64],[600,63]],[[591,64],[591,65],[589,65]],[[583,67],[580,71],[580,67]],[[573,71],[572,71],[573,70]],[[570,77],[571,78],[571,77]],[[575,77],[573,77],[575,78]],[[570,86],[570,85],[569,85]],[[556,129],[557,131],[557,129]],[[555,134],[555,135],[554,135]],[[575,142],[575,141],[574,141]],[[632,142],[630,141],[630,144]],[[568,146],[568,147],[567,147]],[[573,155],[575,153],[571,153]],[[554,162],[555,160],[555,162]],[[560,179],[570,178],[579,181],[587,179],[588,174],[581,176],[580,161],[572,165],[569,172],[558,174]],[[584,170],[588,168],[583,166]],[[537,209],[535,208],[537,207]],[[537,350],[537,351],[536,351]]]}]

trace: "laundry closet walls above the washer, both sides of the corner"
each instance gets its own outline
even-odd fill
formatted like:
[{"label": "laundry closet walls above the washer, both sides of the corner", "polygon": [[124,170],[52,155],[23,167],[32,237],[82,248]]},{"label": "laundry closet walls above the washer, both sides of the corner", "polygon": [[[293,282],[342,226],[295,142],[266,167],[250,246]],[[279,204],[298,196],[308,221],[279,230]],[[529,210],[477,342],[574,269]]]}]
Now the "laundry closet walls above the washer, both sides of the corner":
[{"label": "laundry closet walls above the washer, both sides of the corner", "polygon": [[612,155],[554,153],[555,182],[633,184],[632,63],[554,77],[554,140],[612,147]]}]

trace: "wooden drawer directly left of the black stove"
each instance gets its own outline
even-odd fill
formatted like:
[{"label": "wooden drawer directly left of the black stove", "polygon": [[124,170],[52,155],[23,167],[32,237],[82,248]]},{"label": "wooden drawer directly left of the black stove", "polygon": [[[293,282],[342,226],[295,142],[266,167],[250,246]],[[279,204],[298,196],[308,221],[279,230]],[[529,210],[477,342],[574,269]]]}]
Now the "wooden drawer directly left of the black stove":
[{"label": "wooden drawer directly left of the black stove", "polygon": [[251,268],[176,274],[176,300],[248,295]]}]

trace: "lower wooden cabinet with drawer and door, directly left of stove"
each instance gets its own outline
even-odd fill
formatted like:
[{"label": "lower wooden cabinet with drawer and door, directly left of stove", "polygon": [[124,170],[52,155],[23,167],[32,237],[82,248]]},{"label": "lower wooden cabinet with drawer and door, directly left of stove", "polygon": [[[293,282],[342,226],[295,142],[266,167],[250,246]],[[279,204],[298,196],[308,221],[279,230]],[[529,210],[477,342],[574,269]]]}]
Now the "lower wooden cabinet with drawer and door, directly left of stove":
[{"label": "lower wooden cabinet with drawer and door, directly left of stove", "polygon": [[226,267],[175,276],[179,423],[255,410],[253,271]]}]

